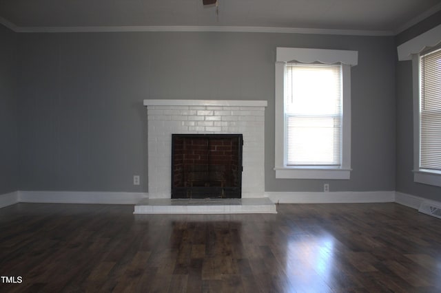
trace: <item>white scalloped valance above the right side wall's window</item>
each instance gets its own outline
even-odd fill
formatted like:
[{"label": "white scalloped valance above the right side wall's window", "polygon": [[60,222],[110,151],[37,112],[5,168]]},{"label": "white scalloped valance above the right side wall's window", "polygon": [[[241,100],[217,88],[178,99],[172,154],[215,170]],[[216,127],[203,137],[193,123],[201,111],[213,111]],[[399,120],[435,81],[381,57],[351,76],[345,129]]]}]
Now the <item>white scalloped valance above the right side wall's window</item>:
[{"label": "white scalloped valance above the right side wall's window", "polygon": [[398,60],[412,60],[412,54],[418,54],[427,47],[434,47],[441,43],[441,25],[435,26],[431,30],[420,34],[415,38],[402,43],[397,47]]}]

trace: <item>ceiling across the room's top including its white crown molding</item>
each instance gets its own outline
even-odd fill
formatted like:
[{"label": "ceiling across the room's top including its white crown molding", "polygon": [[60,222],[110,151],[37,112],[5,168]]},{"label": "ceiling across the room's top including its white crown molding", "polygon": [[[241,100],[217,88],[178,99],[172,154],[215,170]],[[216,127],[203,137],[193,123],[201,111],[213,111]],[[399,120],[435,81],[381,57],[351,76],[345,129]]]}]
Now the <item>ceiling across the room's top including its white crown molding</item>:
[{"label": "ceiling across the room's top including its white crown molding", "polygon": [[358,30],[396,34],[441,10],[441,0],[0,0],[16,31],[156,26]]}]

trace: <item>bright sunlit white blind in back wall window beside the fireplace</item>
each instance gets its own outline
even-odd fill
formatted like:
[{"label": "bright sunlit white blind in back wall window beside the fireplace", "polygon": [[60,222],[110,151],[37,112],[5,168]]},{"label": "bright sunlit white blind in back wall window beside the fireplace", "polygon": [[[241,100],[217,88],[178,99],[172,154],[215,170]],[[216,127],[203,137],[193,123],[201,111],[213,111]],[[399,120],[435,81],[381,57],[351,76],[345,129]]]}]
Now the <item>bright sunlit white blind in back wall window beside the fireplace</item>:
[{"label": "bright sunlit white blind in back wall window beside the fireplace", "polygon": [[285,65],[287,166],[341,166],[342,66]]}]

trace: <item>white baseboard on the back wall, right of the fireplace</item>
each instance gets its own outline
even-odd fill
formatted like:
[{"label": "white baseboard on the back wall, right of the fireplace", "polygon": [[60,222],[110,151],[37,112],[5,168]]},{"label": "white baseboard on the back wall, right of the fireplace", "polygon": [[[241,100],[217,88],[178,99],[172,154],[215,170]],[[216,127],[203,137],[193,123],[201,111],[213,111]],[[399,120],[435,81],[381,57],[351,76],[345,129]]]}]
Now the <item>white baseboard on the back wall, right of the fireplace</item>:
[{"label": "white baseboard on the back wall, right of the fireplace", "polygon": [[395,201],[395,191],[265,192],[265,196],[276,204],[349,204]]}]

